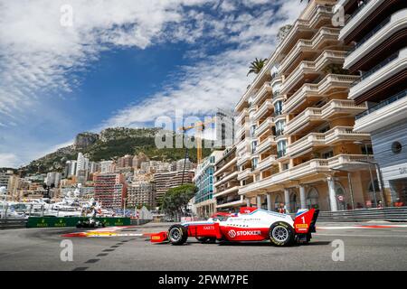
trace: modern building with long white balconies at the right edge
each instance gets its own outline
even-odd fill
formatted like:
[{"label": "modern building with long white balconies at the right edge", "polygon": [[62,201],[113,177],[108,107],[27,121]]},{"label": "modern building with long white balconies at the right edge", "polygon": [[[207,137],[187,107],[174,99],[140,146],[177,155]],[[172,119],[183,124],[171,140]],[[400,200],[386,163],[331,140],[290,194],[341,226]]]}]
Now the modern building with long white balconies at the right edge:
[{"label": "modern building with long white balconies at the right edge", "polygon": [[344,67],[360,74],[349,99],[367,109],[356,116],[355,132],[372,138],[373,169],[382,172],[388,205],[407,201],[407,2],[339,2],[345,26],[339,39],[352,49]]}]

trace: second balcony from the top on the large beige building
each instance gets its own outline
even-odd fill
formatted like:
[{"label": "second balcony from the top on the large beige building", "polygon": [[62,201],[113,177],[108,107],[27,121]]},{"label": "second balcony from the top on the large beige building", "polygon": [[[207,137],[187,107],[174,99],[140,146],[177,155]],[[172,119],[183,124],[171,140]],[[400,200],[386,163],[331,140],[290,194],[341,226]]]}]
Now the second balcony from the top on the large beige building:
[{"label": "second balcony from the top on the large beige building", "polygon": [[339,32],[340,30],[336,28],[322,27],[311,40],[300,39],[281,62],[280,72],[286,73],[293,63],[298,63],[298,61],[302,61],[308,56],[315,55],[322,47],[335,45],[338,42]]}]

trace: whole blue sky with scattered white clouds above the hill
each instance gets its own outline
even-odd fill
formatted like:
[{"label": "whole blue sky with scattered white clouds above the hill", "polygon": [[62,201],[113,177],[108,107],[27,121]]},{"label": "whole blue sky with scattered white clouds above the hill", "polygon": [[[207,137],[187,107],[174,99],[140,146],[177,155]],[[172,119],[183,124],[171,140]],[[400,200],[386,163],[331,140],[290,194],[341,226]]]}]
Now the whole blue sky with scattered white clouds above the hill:
[{"label": "whole blue sky with scattered white clouds above the hill", "polygon": [[[70,5],[72,25],[61,24]],[[0,0],[0,167],[82,131],[232,109],[297,0]],[[63,18],[65,19],[65,18]]]}]

